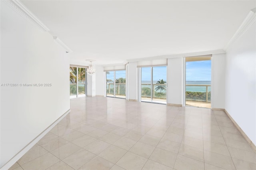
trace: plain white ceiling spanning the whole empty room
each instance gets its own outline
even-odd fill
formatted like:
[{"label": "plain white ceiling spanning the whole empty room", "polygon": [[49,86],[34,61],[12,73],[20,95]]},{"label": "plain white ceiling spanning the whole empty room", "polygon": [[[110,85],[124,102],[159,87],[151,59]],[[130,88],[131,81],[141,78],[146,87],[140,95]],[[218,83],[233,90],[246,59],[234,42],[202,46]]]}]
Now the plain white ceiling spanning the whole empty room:
[{"label": "plain white ceiling spanning the whole empty room", "polygon": [[70,63],[223,49],[256,1],[24,0],[73,53]]}]

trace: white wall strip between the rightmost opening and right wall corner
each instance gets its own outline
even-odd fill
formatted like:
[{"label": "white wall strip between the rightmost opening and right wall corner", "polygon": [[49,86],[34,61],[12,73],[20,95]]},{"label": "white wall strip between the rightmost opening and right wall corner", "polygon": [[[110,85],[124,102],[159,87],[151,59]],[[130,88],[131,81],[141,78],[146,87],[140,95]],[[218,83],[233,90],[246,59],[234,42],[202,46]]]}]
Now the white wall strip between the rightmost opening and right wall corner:
[{"label": "white wall strip between the rightmost opening and right wall corner", "polygon": [[212,108],[225,109],[226,54],[212,55]]}]

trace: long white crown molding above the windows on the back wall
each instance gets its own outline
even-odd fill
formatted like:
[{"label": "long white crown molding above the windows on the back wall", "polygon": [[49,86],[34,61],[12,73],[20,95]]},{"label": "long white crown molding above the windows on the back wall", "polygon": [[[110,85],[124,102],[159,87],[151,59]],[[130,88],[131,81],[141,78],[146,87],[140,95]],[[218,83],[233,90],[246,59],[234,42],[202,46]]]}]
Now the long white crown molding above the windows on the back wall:
[{"label": "long white crown molding above the windows on the back wall", "polygon": [[171,55],[158,55],[158,56],[154,56],[154,57],[128,59],[127,61],[128,62],[136,62],[136,61],[168,59],[168,58],[177,58],[177,57],[194,57],[194,56],[200,56],[200,55],[210,55],[210,54],[220,54],[220,53],[226,53],[226,51],[224,49],[217,49],[217,50],[211,50],[211,51],[180,53],[180,54],[171,54]]}]

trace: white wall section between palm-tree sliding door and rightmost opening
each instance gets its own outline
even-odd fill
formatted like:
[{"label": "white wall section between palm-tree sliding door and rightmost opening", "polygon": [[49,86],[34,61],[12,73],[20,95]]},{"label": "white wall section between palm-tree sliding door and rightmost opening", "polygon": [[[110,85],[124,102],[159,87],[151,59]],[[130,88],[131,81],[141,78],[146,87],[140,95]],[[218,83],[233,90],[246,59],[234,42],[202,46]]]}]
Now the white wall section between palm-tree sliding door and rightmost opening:
[{"label": "white wall section between palm-tree sliding door and rightmost opening", "polygon": [[167,66],[167,104],[182,105],[183,58],[169,58]]}]

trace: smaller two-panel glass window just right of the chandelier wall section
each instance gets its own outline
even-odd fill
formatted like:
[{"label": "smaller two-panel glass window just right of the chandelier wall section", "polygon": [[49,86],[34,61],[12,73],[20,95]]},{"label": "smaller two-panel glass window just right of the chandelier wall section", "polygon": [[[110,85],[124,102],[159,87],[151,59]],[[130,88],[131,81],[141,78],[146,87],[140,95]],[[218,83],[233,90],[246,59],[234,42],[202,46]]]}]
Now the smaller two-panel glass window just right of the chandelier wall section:
[{"label": "smaller two-panel glass window just right of the chandelier wall section", "polygon": [[126,98],[126,71],[106,71],[106,96]]}]

